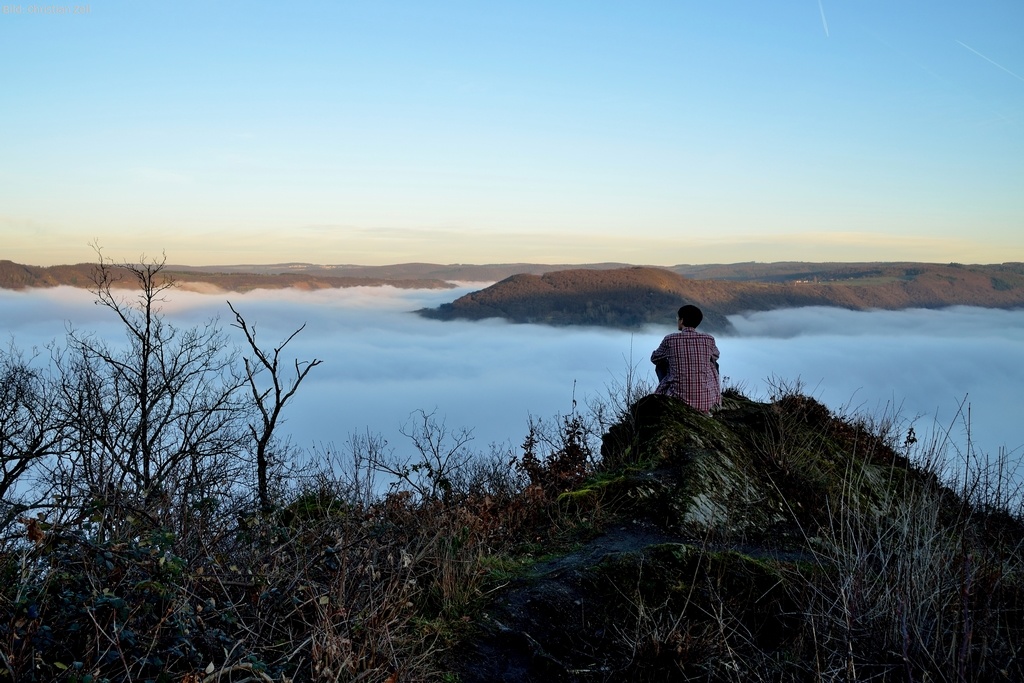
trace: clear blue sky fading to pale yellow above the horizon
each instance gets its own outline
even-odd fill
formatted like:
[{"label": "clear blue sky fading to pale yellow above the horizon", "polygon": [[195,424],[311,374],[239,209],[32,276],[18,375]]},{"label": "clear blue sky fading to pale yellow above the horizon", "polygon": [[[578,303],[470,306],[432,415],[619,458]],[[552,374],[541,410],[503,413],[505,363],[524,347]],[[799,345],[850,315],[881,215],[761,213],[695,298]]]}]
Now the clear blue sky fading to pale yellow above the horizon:
[{"label": "clear blue sky fading to pale yellow above the horizon", "polygon": [[4,3],[0,258],[1024,260],[1021,0]]}]

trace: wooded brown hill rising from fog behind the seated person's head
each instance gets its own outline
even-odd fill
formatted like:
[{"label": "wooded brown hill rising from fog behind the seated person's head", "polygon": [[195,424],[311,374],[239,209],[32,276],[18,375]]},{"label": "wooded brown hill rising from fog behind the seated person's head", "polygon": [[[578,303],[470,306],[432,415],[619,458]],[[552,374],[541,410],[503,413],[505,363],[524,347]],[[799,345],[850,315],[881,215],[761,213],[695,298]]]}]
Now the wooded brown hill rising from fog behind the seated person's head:
[{"label": "wooded brown hill rising from fog behind the seated person's head", "polygon": [[[503,317],[515,323],[637,328],[671,322],[686,302],[703,309],[702,329],[714,332],[728,330],[726,315],[800,306],[893,310],[1024,306],[1024,265],[1019,263],[850,264],[817,270],[802,265],[788,275],[774,273],[779,282],[768,283],[695,280],[643,266],[519,274],[419,312],[439,319]],[[731,267],[735,275],[737,266],[718,267]]]}]

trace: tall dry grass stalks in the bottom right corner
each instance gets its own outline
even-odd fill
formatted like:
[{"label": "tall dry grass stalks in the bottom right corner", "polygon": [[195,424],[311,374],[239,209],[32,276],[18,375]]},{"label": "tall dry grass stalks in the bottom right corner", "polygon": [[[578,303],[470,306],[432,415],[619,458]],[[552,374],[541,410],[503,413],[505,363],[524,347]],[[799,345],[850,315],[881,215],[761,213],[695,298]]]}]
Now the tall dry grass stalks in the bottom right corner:
[{"label": "tall dry grass stalks in the bottom right corner", "polygon": [[[934,454],[925,460],[937,466]],[[936,471],[897,479],[871,501],[859,493],[860,476],[849,472],[831,522],[814,539],[820,569],[804,585],[818,674],[1019,680],[1019,515],[964,499]]]}]

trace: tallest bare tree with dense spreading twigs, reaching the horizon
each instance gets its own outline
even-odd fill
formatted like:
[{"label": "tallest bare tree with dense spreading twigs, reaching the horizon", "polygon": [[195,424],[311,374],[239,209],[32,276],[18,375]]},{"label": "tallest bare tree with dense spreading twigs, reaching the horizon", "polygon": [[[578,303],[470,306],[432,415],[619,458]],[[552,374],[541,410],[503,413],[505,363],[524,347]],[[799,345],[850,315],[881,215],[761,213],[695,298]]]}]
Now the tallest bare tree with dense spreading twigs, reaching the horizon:
[{"label": "tallest bare tree with dense spreading twigs, reaching the horizon", "polygon": [[72,330],[55,358],[75,454],[68,479],[146,510],[209,497],[231,480],[245,435],[237,354],[216,321],[165,321],[166,257],[116,265],[96,251],[95,303],[120,319],[127,344]]}]

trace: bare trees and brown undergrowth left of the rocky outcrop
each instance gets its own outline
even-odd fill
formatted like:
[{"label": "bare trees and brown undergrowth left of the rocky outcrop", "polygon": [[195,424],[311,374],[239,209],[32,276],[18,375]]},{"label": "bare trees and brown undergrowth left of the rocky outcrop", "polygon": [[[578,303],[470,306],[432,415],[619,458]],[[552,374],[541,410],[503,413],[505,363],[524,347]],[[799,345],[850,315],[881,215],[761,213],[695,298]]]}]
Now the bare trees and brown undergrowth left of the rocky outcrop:
[{"label": "bare trees and brown undergrowth left of the rocky outcrop", "polygon": [[353,436],[300,466],[274,429],[317,364],[280,362],[301,330],[264,349],[236,312],[241,357],[164,319],[167,274],[93,266],[123,346],[0,353],[0,680],[441,677],[489,558],[591,464],[583,428],[488,457],[421,414],[409,455]]}]

